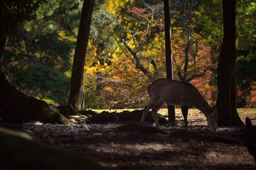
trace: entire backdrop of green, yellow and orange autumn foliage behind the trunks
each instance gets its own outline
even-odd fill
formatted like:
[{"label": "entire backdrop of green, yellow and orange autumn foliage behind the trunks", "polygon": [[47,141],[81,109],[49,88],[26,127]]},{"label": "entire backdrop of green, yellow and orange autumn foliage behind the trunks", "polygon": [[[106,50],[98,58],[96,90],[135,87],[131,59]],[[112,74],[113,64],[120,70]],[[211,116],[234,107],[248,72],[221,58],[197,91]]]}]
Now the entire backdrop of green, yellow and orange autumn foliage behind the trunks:
[{"label": "entire backdrop of green, yellow and orange autumn foliage behind the trunks", "polygon": [[[83,1],[40,4],[6,42],[4,66],[18,90],[67,104]],[[95,1],[84,66],[85,108],[144,108],[147,86],[165,77],[163,2]],[[220,0],[171,1],[173,75],[209,103],[217,97],[223,37]],[[15,12],[15,11],[13,11]],[[256,107],[256,3],[237,1],[238,107]]]}]

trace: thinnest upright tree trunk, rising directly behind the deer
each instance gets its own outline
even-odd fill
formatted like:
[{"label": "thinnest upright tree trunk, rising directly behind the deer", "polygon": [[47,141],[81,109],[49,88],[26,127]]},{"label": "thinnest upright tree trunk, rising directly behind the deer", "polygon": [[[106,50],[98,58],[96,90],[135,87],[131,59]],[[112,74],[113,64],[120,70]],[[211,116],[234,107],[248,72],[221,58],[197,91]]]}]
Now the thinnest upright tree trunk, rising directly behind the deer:
[{"label": "thinnest upright tree trunk, rising directly behind the deer", "polygon": [[[165,56],[166,56],[166,78],[173,79],[172,69],[172,38],[170,33],[170,3],[164,0],[164,31],[165,31]],[[168,106],[168,121],[175,122],[175,108]]]}]

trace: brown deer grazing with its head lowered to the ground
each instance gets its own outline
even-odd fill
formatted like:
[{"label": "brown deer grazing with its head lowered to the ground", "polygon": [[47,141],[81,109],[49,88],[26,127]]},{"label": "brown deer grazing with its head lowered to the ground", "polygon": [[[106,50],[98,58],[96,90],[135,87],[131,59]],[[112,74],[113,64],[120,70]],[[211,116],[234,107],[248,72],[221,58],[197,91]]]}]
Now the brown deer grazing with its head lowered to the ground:
[{"label": "brown deer grazing with its head lowered to the ground", "polygon": [[148,111],[152,110],[152,117],[157,129],[161,129],[157,111],[165,104],[180,106],[184,117],[185,126],[188,127],[188,110],[197,108],[204,113],[207,124],[212,131],[218,127],[217,106],[210,106],[200,92],[191,83],[183,81],[160,78],[148,85],[149,102],[141,117],[141,124],[144,124]]}]

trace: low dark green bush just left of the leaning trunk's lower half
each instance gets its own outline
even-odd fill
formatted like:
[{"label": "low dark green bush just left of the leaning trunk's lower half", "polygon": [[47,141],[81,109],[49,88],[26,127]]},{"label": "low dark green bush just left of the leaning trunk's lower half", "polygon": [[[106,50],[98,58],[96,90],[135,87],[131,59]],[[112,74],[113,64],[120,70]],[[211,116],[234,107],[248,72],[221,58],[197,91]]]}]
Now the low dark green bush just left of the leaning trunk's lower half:
[{"label": "low dark green bush just left of the leaning trunk's lower half", "polygon": [[11,67],[10,74],[17,89],[45,99],[49,103],[67,103],[69,81],[65,74],[47,67],[29,66],[27,69]]}]

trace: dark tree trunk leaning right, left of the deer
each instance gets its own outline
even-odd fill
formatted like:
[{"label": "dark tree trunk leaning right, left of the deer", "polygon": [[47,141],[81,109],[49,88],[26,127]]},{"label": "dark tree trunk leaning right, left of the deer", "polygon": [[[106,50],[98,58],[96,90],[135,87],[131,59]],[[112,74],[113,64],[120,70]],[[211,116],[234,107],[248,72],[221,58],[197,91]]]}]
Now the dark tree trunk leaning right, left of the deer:
[{"label": "dark tree trunk leaning right, left of the deer", "polygon": [[93,0],[84,0],[72,67],[70,96],[68,99],[68,104],[71,104],[76,109],[83,108],[84,62],[92,22],[92,11]]}]

